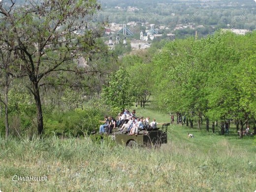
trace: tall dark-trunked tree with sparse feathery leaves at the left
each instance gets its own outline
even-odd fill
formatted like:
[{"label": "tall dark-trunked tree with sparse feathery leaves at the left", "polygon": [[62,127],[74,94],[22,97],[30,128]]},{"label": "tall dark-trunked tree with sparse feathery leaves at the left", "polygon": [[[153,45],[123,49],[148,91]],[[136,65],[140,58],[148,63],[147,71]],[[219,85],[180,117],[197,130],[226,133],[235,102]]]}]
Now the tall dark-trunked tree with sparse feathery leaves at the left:
[{"label": "tall dark-trunked tree with sparse feathery leaves at the left", "polygon": [[[29,77],[28,89],[37,108],[37,131],[44,131],[40,82],[50,73],[91,71],[83,64],[78,68],[73,59],[91,59],[100,52],[95,39],[100,30],[90,21],[100,9],[96,0],[28,0],[26,5],[0,2],[1,32],[21,63],[21,72]],[[8,6],[9,5],[9,6]],[[85,61],[86,61],[85,60]]]}]

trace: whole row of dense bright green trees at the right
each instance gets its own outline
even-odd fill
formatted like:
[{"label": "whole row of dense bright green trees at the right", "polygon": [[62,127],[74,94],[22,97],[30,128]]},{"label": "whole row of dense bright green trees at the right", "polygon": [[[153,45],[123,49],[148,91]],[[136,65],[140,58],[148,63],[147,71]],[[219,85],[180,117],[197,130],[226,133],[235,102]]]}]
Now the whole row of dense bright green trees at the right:
[{"label": "whole row of dense bright green trees at the right", "polygon": [[[156,98],[161,109],[187,118],[234,119],[241,132],[256,114],[256,32],[218,32],[168,42],[154,57]],[[242,135],[241,135],[242,136]]]}]

